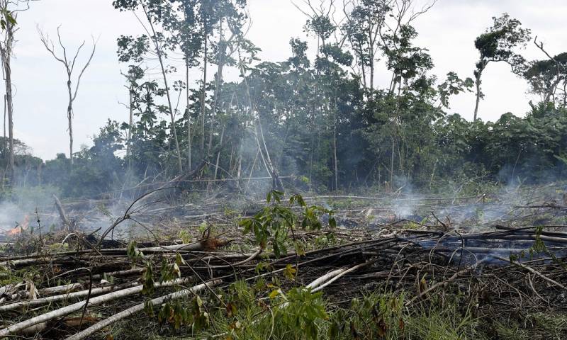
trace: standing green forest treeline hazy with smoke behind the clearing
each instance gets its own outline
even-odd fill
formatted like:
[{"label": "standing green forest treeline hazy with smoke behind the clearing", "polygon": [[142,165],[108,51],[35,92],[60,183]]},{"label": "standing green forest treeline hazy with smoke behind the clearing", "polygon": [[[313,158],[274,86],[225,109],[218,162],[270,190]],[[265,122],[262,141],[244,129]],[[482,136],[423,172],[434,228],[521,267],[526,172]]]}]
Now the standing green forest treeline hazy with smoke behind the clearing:
[{"label": "standing green forest treeline hazy with smoke behind the clearing", "polygon": [[[92,147],[45,162],[16,136],[13,174],[4,134],[4,193],[55,186],[68,197],[96,196],[182,174],[265,176],[274,186],[295,176],[314,191],[563,174],[567,52],[548,52],[517,19],[495,17],[471,41],[478,50],[471,77],[439,77],[412,25],[430,6],[413,0],[304,5],[298,15],[316,45],[291,38],[289,57],[268,61],[247,39],[245,0],[113,1],[117,11],[135,11],[140,19],[140,35],[117,41],[130,120],[109,119]],[[522,57],[527,46],[539,49],[541,60]],[[509,64],[539,98],[523,117],[477,117],[482,74],[495,62]],[[377,81],[378,69],[388,70],[387,81]],[[191,79],[195,70],[201,79]],[[473,121],[450,114],[451,96],[464,92],[476,95]]]}]

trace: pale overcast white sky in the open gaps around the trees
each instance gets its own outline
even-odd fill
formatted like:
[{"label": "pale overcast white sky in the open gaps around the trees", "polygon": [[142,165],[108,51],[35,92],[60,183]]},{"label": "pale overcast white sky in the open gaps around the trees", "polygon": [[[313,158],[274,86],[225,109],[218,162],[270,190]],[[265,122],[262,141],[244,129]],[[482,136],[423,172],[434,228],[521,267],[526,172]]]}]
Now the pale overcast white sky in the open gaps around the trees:
[{"label": "pale overcast white sky in the open gaps around the trees", "polygon": [[[296,0],[302,6],[302,0]],[[317,0],[315,0],[317,1]],[[417,0],[420,1],[420,0]],[[425,0],[424,0],[425,1]],[[305,16],[290,0],[248,0],[252,26],[247,37],[262,49],[262,60],[283,61],[291,54],[290,38],[308,40],[303,32]],[[567,50],[564,37],[564,0],[438,0],[425,15],[415,21],[419,36],[416,45],[427,47],[434,61],[432,74],[439,79],[454,71],[461,78],[473,77],[478,58],[473,41],[491,25],[493,16],[510,13],[538,35],[552,55]],[[91,145],[91,137],[106,120],[128,120],[128,91],[124,87],[120,64],[116,57],[116,38],[138,34],[140,23],[132,13],[113,8],[111,0],[39,0],[18,15],[16,46],[12,62],[14,92],[14,133],[33,154],[43,159],[68,152],[67,88],[64,67],[45,50],[38,37],[38,28],[52,37],[61,26],[64,44],[69,50],[86,41],[79,66],[86,61],[96,39],[96,52],[82,78],[74,102],[74,149]],[[312,48],[313,50],[313,48]],[[533,44],[523,52],[527,59],[544,59]],[[191,77],[200,77],[196,69]],[[150,75],[152,71],[150,70]],[[378,84],[388,84],[384,70],[376,74]],[[479,117],[497,120],[512,112],[524,115],[529,110],[527,84],[513,75],[505,64],[490,64],[483,73],[483,92]],[[471,119],[473,94],[451,99],[449,113]]]}]

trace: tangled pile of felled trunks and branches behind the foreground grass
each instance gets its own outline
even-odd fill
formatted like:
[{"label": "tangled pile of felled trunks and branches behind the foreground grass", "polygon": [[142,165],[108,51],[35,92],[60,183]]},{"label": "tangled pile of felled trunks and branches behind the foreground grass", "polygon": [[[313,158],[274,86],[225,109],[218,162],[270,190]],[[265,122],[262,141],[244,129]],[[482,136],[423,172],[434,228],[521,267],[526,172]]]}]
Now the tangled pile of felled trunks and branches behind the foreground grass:
[{"label": "tangled pile of felled trunks and branches behind the foreground grass", "polygon": [[[406,306],[450,289],[490,300],[478,307],[487,313],[495,305],[566,306],[567,233],[545,227],[477,234],[417,230],[347,242],[348,233],[322,229],[293,237],[324,233],[335,233],[338,245],[282,256],[262,247],[228,251],[227,239],[210,236],[194,243],[121,247],[77,237],[74,250],[0,256],[5,277],[33,273],[0,287],[0,337],[86,339],[148,304],[207,292],[215,298],[215,291],[236,280],[276,276],[286,278],[282,289],[305,286],[337,300],[381,286],[407,292]],[[89,312],[97,306],[97,313]]]}]

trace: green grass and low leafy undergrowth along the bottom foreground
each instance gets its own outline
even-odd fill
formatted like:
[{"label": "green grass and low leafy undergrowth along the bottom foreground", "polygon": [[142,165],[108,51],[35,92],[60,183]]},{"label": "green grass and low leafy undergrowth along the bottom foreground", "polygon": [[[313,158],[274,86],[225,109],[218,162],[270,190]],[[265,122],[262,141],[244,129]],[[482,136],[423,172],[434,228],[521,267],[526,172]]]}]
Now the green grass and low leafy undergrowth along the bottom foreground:
[{"label": "green grass and low leafy undergrowth along the bottom foreground", "polygon": [[[534,312],[522,320],[491,320],[473,316],[473,306],[459,295],[432,297],[422,305],[405,307],[404,292],[378,289],[337,307],[320,293],[303,287],[283,292],[263,280],[254,284],[240,280],[216,293],[223,302],[212,296],[206,299],[210,313],[206,324],[176,328],[173,317],[169,326],[167,319],[160,324],[154,317],[152,322],[143,322],[143,334],[130,321],[114,328],[113,338],[527,340],[565,339],[567,334],[566,315]],[[191,305],[192,299],[179,307],[191,309]]]}]

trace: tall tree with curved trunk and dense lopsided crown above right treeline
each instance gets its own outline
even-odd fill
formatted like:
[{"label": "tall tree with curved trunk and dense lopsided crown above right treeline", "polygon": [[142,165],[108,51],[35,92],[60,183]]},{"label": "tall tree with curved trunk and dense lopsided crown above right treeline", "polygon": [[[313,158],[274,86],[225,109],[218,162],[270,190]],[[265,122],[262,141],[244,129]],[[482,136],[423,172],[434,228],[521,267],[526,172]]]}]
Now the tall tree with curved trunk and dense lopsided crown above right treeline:
[{"label": "tall tree with curved trunk and dense lopsided crown above right treeline", "polygon": [[486,32],[479,35],[474,41],[474,45],[480,54],[474,79],[476,86],[476,102],[473,113],[473,120],[478,116],[478,105],[484,94],[481,90],[481,77],[490,62],[506,62],[512,67],[512,72],[520,72],[519,69],[525,63],[524,57],[515,52],[517,47],[525,47],[530,40],[531,31],[522,28],[522,23],[515,18],[510,18],[508,13],[500,17],[493,17],[493,26],[486,29]]}]

